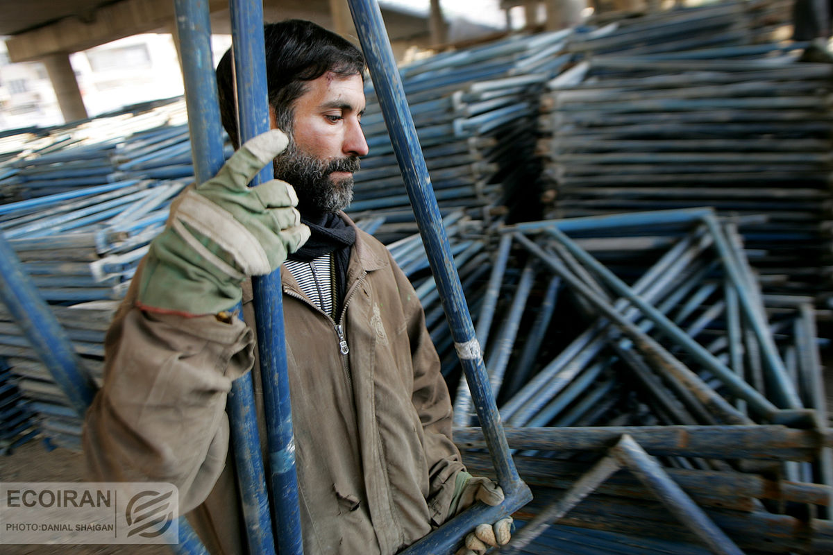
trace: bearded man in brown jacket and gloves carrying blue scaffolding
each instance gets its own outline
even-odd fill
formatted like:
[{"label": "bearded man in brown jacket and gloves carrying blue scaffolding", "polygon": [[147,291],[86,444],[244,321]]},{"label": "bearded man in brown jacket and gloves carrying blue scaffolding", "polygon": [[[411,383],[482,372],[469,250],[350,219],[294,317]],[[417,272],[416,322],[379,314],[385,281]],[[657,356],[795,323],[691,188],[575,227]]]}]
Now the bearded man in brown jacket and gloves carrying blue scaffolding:
[{"label": "bearded man in brown jacket and gloves carrying blue scaffolding", "polygon": [[[87,461],[98,479],[175,483],[212,553],[245,552],[224,409],[232,379],[257,364],[242,282],[281,266],[305,553],[397,553],[503,495],[466,473],[451,442],[412,286],[342,212],[368,150],[362,53],[310,22],[267,25],[265,37],[272,127],[288,141],[277,130],[248,141],[172,206],[107,334]],[[230,65],[227,53],[217,82],[237,144]],[[247,188],[270,161],[294,188]],[[229,314],[241,300],[246,323]],[[510,525],[478,530],[506,543]]]}]

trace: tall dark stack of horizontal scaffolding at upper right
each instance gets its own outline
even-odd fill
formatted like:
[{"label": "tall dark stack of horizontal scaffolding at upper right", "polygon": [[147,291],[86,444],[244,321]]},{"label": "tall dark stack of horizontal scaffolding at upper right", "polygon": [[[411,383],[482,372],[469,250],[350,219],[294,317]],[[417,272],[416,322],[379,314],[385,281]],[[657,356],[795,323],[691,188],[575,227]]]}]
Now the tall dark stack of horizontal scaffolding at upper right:
[{"label": "tall dark stack of horizontal scaffolding at upper right", "polygon": [[[637,27],[654,25],[666,27]],[[766,290],[826,302],[833,66],[796,62],[794,43],[615,53],[601,43],[617,37],[571,43],[586,59],[548,83],[538,146],[548,216],[695,206],[766,216],[740,226]]]}]

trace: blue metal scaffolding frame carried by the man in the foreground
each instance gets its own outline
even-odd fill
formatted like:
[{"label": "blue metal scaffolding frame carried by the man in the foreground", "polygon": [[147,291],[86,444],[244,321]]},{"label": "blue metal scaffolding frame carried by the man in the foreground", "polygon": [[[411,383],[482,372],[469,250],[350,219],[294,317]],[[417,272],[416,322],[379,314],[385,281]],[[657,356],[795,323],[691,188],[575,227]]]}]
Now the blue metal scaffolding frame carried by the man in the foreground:
[{"label": "blue metal scaffolding frame carried by the man in the foreground", "polygon": [[[375,0],[348,0],[348,3],[426,245],[452,338],[495,465],[498,483],[505,493],[501,505],[491,507],[477,503],[403,552],[449,553],[477,524],[495,522],[514,513],[532,496],[516,471],[506,443],[382,14]],[[176,0],[175,6],[194,171],[197,182],[202,182],[215,175],[223,163],[208,2]],[[262,2],[231,0],[230,6],[239,129],[241,141],[246,141],[269,128]],[[254,183],[271,178],[268,174],[268,169],[263,171]],[[94,394],[92,379],[84,371],[52,311],[22,272],[17,255],[2,237],[0,285],[2,300],[20,322],[37,352],[42,354],[56,383],[71,399],[73,408],[83,415]],[[233,420],[232,444],[241,494],[246,501],[247,538],[252,553],[276,553],[277,548],[282,555],[300,554],[301,526],[279,272],[255,280],[254,289],[267,412],[268,464],[264,464],[260,454],[251,376],[237,379],[229,396],[229,411]],[[267,498],[266,468],[269,469],[272,503]],[[207,553],[184,517],[179,518],[179,533],[180,543],[175,546],[176,553]]]}]

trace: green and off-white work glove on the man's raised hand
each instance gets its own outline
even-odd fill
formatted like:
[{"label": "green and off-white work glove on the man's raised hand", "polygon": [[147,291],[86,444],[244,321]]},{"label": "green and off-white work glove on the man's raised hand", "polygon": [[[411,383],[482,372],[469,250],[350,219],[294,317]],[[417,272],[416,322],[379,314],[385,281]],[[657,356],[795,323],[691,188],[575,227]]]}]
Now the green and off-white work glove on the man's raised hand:
[{"label": "green and off-white work glove on the man's raised hand", "polygon": [[242,298],[242,280],[271,273],[309,239],[292,186],[248,187],[287,143],[278,130],[246,141],[217,176],[174,201],[147,253],[140,308],[186,316],[230,310]]}]

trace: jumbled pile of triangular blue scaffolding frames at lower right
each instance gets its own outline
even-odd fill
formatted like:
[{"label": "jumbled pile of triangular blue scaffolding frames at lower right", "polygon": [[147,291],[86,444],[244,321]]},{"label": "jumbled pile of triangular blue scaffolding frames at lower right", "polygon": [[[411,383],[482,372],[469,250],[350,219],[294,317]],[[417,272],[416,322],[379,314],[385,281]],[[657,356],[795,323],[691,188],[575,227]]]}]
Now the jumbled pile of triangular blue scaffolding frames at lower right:
[{"label": "jumbled pile of triangular blue scaffolding frames at lower right", "polygon": [[[536,498],[511,553],[588,553],[548,543],[553,526],[711,553],[833,546],[816,311],[761,293],[738,223],[701,209],[501,230],[476,330]],[[623,250],[647,270],[599,261]],[[489,473],[464,386],[455,419]]]}]

